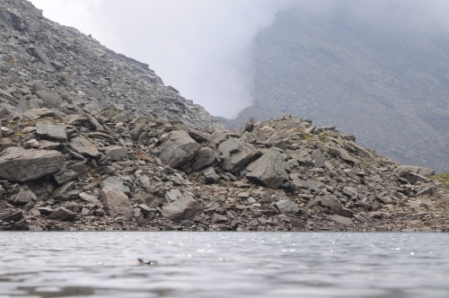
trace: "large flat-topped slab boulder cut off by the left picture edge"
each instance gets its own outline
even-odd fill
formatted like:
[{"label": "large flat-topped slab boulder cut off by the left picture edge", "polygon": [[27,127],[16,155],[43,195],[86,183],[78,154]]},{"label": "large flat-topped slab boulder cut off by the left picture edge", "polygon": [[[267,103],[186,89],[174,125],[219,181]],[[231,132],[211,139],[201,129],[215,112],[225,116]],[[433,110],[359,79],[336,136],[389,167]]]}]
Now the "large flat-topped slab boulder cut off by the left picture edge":
[{"label": "large flat-topped slab boulder cut off by the left picture edge", "polygon": [[10,147],[0,157],[0,179],[27,181],[59,171],[64,155],[53,150]]}]

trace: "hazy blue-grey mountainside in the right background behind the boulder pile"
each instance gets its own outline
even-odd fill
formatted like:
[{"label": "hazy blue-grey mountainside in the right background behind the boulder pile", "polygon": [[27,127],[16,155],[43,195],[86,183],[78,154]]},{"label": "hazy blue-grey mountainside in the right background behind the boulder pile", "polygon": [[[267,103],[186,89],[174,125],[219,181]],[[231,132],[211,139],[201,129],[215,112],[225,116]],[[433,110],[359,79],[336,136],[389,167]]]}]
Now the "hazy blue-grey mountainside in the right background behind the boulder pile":
[{"label": "hazy blue-grey mountainside in the right background behind the boulder pile", "polygon": [[398,162],[449,170],[449,35],[350,14],[278,13],[254,40],[255,101],[235,120],[313,118]]}]

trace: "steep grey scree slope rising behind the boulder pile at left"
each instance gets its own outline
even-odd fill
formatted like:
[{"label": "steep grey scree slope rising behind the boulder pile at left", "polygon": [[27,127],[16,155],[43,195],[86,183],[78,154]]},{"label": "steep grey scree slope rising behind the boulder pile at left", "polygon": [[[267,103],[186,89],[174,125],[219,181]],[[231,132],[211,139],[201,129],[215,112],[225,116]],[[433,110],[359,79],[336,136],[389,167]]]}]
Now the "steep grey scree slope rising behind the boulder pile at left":
[{"label": "steep grey scree slope rising behind the boulder pile at left", "polygon": [[0,41],[0,113],[84,101],[85,109],[114,104],[191,127],[223,126],[145,63],[49,21],[28,1],[0,1]]}]

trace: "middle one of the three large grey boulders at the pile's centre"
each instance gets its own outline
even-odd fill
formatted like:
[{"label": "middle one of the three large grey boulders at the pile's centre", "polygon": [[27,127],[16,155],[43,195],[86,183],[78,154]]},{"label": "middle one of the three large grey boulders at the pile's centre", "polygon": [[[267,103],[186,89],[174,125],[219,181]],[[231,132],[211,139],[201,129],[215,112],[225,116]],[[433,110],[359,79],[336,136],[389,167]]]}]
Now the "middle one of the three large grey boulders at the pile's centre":
[{"label": "middle one of the three large grey boulders at the pile's centre", "polygon": [[242,171],[248,164],[260,157],[260,152],[252,145],[233,137],[218,145],[217,149],[223,153],[222,168],[234,173]]}]

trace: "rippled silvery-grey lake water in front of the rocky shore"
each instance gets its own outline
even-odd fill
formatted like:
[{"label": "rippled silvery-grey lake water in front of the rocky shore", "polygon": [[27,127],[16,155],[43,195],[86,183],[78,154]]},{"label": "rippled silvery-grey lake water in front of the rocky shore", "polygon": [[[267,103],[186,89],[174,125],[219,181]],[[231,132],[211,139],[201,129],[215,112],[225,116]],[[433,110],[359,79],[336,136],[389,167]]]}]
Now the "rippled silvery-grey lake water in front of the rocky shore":
[{"label": "rippled silvery-grey lake water in front of the rocky shore", "polygon": [[449,297],[449,234],[0,232],[0,297]]}]

